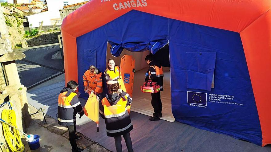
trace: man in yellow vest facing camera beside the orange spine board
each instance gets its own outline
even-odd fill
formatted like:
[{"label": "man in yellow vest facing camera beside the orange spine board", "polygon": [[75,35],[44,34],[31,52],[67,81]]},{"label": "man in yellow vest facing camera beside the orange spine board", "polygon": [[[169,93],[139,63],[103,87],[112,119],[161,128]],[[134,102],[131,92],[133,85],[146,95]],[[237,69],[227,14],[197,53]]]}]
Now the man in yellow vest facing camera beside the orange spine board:
[{"label": "man in yellow vest facing camera beside the orange spine board", "polygon": [[[115,66],[115,61],[113,59],[108,59],[108,68],[104,71],[104,77],[106,80],[107,88],[110,91],[110,86],[112,84],[119,84],[119,66]],[[110,92],[109,92],[110,93]]]}]

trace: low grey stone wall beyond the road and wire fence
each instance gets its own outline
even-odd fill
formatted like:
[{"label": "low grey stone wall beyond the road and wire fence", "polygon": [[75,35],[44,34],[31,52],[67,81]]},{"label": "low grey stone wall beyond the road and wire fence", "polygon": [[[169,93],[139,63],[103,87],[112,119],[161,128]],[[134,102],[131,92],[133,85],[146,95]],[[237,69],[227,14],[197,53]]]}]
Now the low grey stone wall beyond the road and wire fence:
[{"label": "low grey stone wall beyond the road and wire fence", "polygon": [[25,39],[25,41],[26,41],[28,47],[59,43],[59,41],[58,41],[59,34],[61,34],[61,32],[59,32],[59,31],[58,32],[46,32],[44,34],[42,33],[41,35],[38,35],[37,37]]}]

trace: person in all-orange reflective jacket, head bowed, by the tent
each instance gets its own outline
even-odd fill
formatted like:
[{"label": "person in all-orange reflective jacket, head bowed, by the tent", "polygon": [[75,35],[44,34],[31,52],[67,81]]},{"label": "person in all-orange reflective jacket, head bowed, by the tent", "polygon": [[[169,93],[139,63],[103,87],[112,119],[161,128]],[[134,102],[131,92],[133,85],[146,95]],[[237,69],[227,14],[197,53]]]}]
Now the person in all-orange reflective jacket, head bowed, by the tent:
[{"label": "person in all-orange reflective jacket, head bowed, by the tent", "polygon": [[84,73],[83,82],[85,87],[84,90],[88,94],[93,91],[95,95],[99,96],[99,94],[103,92],[102,72],[94,65],[90,65],[89,70]]}]

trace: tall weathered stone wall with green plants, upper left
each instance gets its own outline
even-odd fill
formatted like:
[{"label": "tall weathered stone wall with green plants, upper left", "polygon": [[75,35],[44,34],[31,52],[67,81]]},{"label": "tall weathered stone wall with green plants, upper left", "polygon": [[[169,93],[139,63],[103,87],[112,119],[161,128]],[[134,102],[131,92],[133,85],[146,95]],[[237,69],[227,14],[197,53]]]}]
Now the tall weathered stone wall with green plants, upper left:
[{"label": "tall weathered stone wall with green plants, upper left", "polygon": [[11,42],[12,49],[14,49],[15,45],[21,44],[21,40],[23,39],[23,21],[21,17],[16,17],[9,14],[4,14],[4,19],[9,35],[8,39]]}]

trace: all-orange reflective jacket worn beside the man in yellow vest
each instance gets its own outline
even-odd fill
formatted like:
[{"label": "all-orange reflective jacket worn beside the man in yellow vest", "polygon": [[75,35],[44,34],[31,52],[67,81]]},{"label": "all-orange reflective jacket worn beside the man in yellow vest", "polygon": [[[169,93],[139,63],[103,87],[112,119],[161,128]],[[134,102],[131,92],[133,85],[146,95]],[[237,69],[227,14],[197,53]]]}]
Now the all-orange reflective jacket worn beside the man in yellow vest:
[{"label": "all-orange reflective jacket worn beside the man in yellow vest", "polygon": [[[91,76],[93,75],[93,76]],[[102,81],[102,73],[91,74],[89,70],[87,70],[83,75],[84,87],[90,87],[91,90],[97,93],[103,92],[103,81]]]}]

